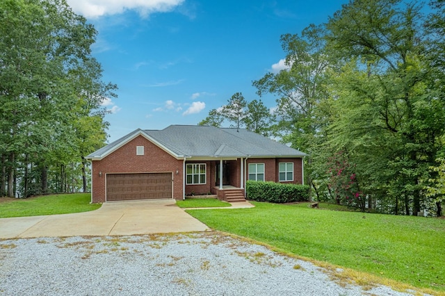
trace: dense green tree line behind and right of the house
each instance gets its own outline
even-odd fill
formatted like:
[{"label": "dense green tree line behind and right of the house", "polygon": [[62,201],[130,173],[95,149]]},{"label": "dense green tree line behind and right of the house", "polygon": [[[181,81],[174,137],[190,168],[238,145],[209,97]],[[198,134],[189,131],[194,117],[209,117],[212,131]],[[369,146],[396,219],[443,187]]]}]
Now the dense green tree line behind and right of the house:
[{"label": "dense green tree line behind and right of the house", "polygon": [[[244,124],[309,154],[312,198],[362,211],[442,215],[445,2],[353,0],[284,34],[286,69],[253,81],[200,124]],[[256,124],[252,124],[253,120]]]}]

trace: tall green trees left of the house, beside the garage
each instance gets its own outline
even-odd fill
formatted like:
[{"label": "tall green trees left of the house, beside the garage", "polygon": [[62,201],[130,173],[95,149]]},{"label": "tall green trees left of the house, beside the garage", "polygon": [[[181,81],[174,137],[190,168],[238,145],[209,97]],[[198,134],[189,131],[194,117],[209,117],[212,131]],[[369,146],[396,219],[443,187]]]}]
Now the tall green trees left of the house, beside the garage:
[{"label": "tall green trees left of the house, beside the garage", "polygon": [[106,141],[97,31],[65,0],[0,1],[0,197],[88,188],[83,156]]}]

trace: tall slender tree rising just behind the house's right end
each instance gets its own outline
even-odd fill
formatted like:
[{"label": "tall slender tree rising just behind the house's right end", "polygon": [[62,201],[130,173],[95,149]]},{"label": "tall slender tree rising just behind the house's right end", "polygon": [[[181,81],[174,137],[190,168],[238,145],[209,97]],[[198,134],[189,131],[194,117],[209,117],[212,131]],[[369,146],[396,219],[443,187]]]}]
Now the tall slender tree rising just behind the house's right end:
[{"label": "tall slender tree rising just behind the house's right end", "polygon": [[[325,29],[311,25],[300,35],[281,36],[282,48],[286,54],[286,69],[279,73],[268,73],[253,85],[261,97],[270,93],[277,96],[277,125],[275,135],[282,142],[309,154],[306,158],[305,172],[307,183],[318,195],[318,165],[312,165],[314,156],[319,154],[318,146],[324,142],[323,129],[327,125],[327,109],[320,107],[328,98],[327,78],[332,62],[325,51]],[[319,108],[320,107],[320,108]]]}]

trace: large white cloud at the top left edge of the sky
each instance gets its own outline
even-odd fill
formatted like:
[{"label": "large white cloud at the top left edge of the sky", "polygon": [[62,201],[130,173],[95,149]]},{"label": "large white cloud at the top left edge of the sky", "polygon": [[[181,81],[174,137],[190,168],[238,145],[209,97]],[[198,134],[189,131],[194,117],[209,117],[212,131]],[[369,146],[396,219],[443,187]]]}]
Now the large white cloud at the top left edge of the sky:
[{"label": "large white cloud at the top left edge of the sky", "polygon": [[184,0],[67,0],[75,13],[84,17],[116,15],[125,10],[138,10],[147,17],[152,13],[165,13],[173,10]]}]

